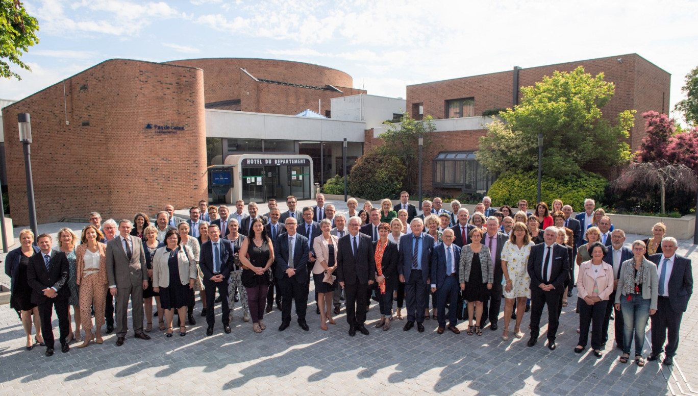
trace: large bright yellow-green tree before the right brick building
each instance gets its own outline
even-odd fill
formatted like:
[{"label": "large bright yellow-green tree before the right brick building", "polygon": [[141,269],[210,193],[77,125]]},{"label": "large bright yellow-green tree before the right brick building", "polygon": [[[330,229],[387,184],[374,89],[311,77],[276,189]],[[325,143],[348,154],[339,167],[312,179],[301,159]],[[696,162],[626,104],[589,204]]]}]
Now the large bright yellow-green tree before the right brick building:
[{"label": "large bright yellow-green tree before the right brick building", "polygon": [[500,112],[504,122],[488,124],[477,160],[493,173],[536,169],[537,135],[542,133],[545,175],[565,177],[593,164],[628,163],[631,154],[625,139],[634,124],[634,110],[619,113],[611,125],[600,109],[614,89],[603,73],[592,76],[581,66],[521,88],[521,104]]}]

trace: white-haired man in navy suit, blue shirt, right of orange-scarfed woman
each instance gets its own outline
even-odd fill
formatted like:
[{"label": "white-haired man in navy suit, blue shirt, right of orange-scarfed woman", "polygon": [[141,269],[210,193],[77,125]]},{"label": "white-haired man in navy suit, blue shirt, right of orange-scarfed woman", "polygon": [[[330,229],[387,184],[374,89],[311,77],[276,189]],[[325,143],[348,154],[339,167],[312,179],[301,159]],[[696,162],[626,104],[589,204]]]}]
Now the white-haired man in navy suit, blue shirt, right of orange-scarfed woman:
[{"label": "white-haired man in navy suit, blue shirt, right of orange-scarfed woman", "polygon": [[[426,212],[427,214],[429,212]],[[412,233],[400,238],[400,259],[397,272],[400,281],[405,284],[405,300],[407,302],[407,323],[403,330],[408,331],[415,326],[417,331],[424,332],[424,310],[426,309],[427,285],[431,271],[431,250],[434,239],[423,233],[424,223],[419,217],[410,223]]]}]

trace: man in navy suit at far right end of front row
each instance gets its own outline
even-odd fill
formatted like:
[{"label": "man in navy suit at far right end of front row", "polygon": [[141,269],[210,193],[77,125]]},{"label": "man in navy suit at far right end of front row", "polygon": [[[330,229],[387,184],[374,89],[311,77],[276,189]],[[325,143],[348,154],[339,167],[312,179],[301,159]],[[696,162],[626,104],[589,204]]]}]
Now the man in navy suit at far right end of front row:
[{"label": "man in navy suit at far right end of front row", "polygon": [[[674,237],[664,237],[662,253],[650,256],[650,261],[657,265],[659,277],[659,297],[657,311],[652,320],[652,353],[647,360],[657,360],[664,348],[664,365],[674,364],[674,355],[678,349],[678,330],[681,317],[688,307],[693,293],[693,275],[691,261],[676,254],[678,242]],[[617,316],[617,315],[616,315]],[[664,340],[669,339],[664,346]]]}]

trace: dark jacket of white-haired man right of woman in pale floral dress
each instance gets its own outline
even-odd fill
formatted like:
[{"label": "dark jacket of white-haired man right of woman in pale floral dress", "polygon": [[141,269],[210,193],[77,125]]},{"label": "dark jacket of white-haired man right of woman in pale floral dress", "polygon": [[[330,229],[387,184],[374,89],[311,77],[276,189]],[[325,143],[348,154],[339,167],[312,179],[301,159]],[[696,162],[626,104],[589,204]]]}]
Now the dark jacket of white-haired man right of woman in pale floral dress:
[{"label": "dark jacket of white-haired man right of woman in pale floral dress", "polygon": [[550,293],[563,293],[563,283],[570,276],[570,257],[567,253],[567,247],[559,244],[552,244],[550,281],[543,281],[543,258],[545,254],[545,242],[537,244],[530,248],[528,254],[528,277],[530,277],[530,288],[538,287],[540,284],[551,284],[555,288]]}]

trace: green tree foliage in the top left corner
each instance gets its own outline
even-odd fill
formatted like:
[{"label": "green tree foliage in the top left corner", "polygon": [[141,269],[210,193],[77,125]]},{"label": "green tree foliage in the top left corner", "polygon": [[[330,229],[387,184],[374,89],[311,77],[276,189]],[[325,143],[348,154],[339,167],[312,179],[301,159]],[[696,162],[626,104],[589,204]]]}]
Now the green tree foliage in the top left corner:
[{"label": "green tree foliage in the top left corner", "polygon": [[20,57],[39,42],[38,30],[36,18],[27,13],[20,0],[0,0],[0,77],[22,80],[10,70],[10,64],[31,71]]}]

